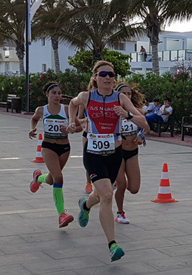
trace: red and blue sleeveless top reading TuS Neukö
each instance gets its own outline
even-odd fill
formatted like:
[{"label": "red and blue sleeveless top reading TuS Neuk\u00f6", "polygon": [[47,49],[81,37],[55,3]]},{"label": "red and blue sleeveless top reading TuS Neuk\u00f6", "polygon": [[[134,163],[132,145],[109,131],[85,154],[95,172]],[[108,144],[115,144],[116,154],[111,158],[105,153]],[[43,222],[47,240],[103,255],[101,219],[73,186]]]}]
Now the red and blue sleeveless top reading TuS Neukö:
[{"label": "red and blue sleeveless top reading TuS Neuk\u00f6", "polygon": [[120,106],[119,91],[104,99],[97,90],[90,92],[87,105],[88,132],[89,133],[113,133],[115,141],[121,140],[121,116],[114,111],[114,106]]}]

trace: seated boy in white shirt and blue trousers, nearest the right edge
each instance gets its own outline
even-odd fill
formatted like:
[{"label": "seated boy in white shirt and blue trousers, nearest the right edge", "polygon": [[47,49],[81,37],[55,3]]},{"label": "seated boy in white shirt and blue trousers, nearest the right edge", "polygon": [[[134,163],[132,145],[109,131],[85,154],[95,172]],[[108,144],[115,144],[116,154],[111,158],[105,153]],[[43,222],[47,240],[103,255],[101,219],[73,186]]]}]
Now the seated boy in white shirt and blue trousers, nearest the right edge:
[{"label": "seated boy in white shirt and blue trousers, nearest the right edge", "polygon": [[169,115],[173,112],[171,107],[171,100],[169,98],[165,98],[164,105],[160,107],[160,109],[156,113],[150,113],[146,115],[145,118],[148,123],[156,123],[156,122],[167,122],[169,119]]}]

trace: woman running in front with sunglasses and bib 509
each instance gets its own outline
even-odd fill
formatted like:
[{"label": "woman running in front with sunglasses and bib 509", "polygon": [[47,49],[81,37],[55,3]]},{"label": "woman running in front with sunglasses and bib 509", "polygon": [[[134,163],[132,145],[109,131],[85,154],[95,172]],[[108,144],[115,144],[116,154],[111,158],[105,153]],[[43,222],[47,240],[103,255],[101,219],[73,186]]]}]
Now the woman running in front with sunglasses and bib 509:
[{"label": "woman running in front with sunglasses and bib 509", "polygon": [[124,255],[115,241],[112,213],[112,184],[122,162],[121,107],[127,111],[129,119],[140,127],[147,127],[145,117],[134,108],[132,102],[119,91],[112,90],[114,77],[111,63],[99,61],[95,64],[91,81],[97,89],[83,91],[71,100],[67,128],[75,132],[75,114],[78,106],[83,104],[88,113],[88,142],[84,145],[83,160],[95,188],[88,199],[79,200],[78,223],[86,227],[91,208],[100,203],[99,220],[108,240],[111,261],[117,261]]}]

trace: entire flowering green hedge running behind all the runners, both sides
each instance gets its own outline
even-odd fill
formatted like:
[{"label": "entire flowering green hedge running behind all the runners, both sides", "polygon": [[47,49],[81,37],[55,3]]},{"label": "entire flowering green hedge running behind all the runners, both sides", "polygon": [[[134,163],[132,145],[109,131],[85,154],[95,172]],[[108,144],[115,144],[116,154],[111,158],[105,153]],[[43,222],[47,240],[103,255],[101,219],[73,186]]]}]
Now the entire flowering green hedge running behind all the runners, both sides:
[{"label": "entire flowering green hedge running behind all the runners, both sides", "polygon": [[[62,92],[67,96],[77,96],[80,91],[86,91],[90,80],[90,74],[80,74],[75,70],[66,69],[64,73],[55,74],[49,70],[46,74],[30,74],[29,76],[29,98],[30,111],[36,107],[47,104],[43,95],[43,86],[49,81],[58,81],[62,84]],[[176,111],[176,128],[180,131],[182,116],[192,114],[192,80],[189,73],[180,70],[174,75],[166,72],[162,76],[153,73],[134,74],[127,78],[129,83],[139,83],[141,92],[152,101],[153,98],[160,98],[163,104],[165,97],[171,98],[171,106]],[[25,76],[9,78],[0,76],[0,98],[6,100],[8,94],[16,94],[22,98],[22,110],[26,107],[26,81]],[[64,100],[66,104],[69,100]]]}]

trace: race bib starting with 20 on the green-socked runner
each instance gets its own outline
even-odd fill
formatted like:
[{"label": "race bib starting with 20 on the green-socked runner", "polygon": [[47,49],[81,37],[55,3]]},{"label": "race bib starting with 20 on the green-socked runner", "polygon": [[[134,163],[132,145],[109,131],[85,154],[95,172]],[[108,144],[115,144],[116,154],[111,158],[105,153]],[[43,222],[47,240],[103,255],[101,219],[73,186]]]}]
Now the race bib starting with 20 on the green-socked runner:
[{"label": "race bib starting with 20 on the green-socked runner", "polygon": [[68,121],[46,118],[44,120],[45,137],[52,137],[52,138],[67,137],[66,134],[60,131],[61,125],[68,126]]}]

